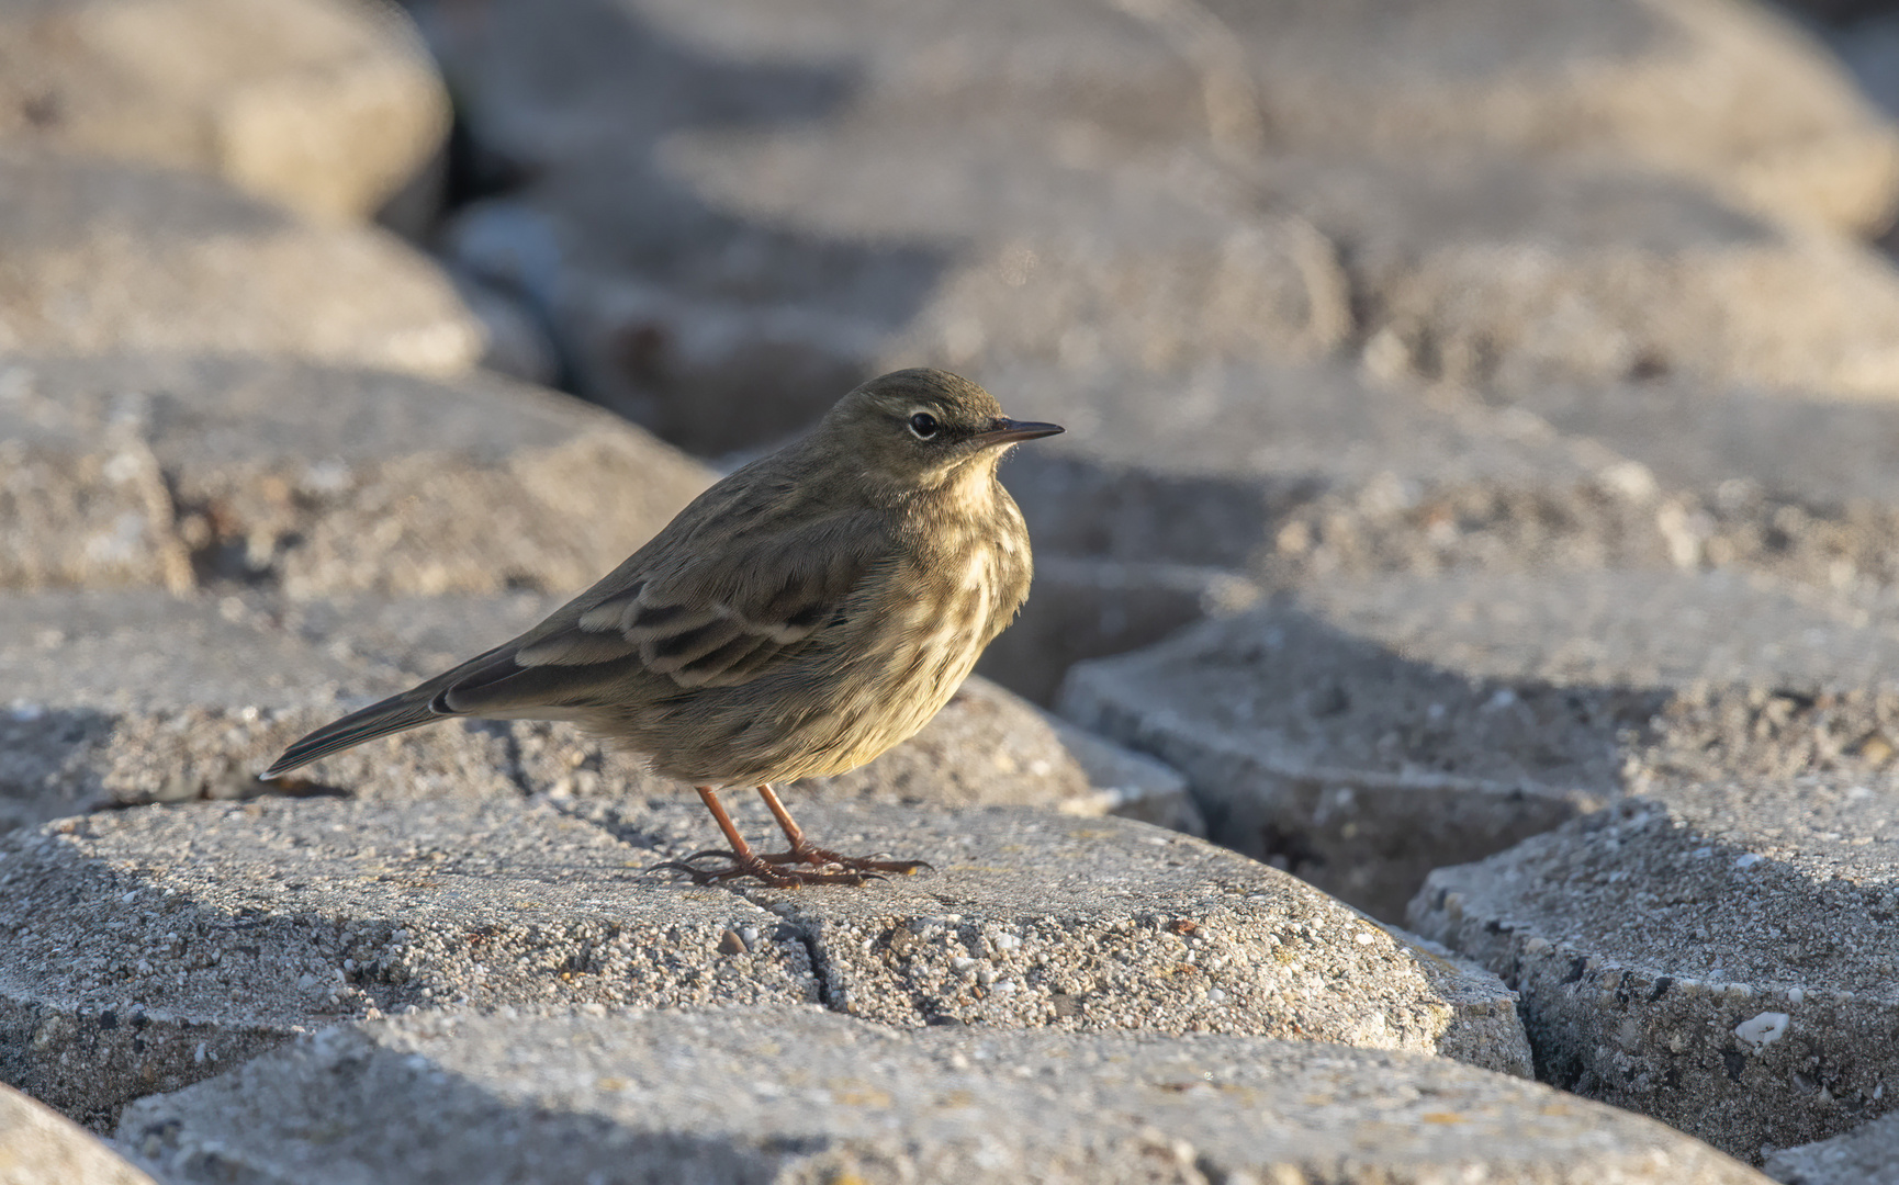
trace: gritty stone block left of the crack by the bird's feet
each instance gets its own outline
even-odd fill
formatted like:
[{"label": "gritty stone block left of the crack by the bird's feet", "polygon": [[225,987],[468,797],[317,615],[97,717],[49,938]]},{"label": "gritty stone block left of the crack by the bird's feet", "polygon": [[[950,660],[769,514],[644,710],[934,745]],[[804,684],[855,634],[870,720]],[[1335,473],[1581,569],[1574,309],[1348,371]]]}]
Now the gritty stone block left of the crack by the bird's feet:
[{"label": "gritty stone block left of the crack by the bird's feet", "polygon": [[817,999],[801,938],[520,801],[146,807],[0,837],[0,1079],[91,1126],[285,1037],[437,1008]]}]

